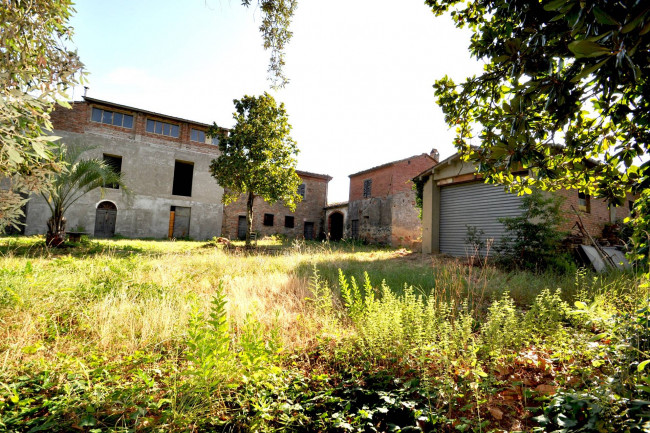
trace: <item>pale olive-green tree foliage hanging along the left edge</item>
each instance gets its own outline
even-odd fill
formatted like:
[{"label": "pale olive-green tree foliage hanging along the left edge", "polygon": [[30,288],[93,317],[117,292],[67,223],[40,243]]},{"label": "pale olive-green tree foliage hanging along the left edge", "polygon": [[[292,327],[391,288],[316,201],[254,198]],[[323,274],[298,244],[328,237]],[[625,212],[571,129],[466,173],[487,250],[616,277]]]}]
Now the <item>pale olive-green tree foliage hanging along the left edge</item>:
[{"label": "pale olive-green tree foliage hanging along the left edge", "polygon": [[0,232],[15,226],[24,198],[62,169],[50,113],[82,64],[68,48],[71,0],[0,0]]}]

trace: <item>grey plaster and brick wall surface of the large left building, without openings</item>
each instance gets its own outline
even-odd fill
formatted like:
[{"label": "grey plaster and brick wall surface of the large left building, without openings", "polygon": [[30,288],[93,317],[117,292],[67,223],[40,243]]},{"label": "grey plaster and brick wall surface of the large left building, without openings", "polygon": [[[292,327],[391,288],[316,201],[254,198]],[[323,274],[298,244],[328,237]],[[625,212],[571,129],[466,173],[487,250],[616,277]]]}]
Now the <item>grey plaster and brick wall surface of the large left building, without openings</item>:
[{"label": "grey plaster and brick wall surface of the large left building, without openings", "polygon": [[[110,107],[107,107],[109,109]],[[93,191],[66,213],[67,228],[83,228],[92,234],[99,202],[108,200],[117,206],[115,233],[126,237],[166,238],[169,231],[171,206],[191,208],[190,237],[207,239],[221,234],[223,189],[210,175],[210,161],[218,155],[213,145],[189,143],[189,124],[181,128],[188,135],[179,139],[145,134],[147,116],[134,113],[133,130],[90,122],[88,104],[77,103],[74,110],[63,114],[57,110],[54,135],[62,137],[68,146],[90,148],[83,157],[102,158],[103,154],[122,157],[122,173],[133,191],[127,200],[121,190],[106,188],[104,197]],[[183,124],[181,124],[183,125]],[[176,160],[194,164],[192,196],[172,195]],[[49,218],[47,203],[34,196],[27,208],[27,234],[45,233]]]}]

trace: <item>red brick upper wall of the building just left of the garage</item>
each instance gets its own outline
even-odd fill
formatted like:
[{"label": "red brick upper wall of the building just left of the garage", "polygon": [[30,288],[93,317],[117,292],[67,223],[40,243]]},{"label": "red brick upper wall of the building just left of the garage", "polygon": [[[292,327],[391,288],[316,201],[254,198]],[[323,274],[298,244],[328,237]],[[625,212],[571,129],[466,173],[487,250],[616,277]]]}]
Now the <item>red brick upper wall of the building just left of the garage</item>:
[{"label": "red brick upper wall of the building just left of the garage", "polygon": [[372,179],[372,197],[384,198],[411,189],[411,179],[431,168],[435,162],[427,154],[395,162],[388,166],[350,176],[349,201],[363,199],[363,182]]}]

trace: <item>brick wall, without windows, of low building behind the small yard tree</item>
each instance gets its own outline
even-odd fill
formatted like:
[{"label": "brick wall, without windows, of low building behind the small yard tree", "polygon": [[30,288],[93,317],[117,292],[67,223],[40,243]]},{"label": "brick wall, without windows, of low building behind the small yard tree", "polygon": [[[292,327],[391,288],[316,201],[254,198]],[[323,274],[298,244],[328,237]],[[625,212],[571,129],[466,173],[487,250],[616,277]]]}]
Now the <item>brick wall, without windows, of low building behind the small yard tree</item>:
[{"label": "brick wall, without windows, of low building behind the small yard tree", "polygon": [[[317,238],[323,228],[325,216],[324,207],[327,206],[328,180],[323,178],[300,175],[305,183],[305,199],[296,205],[296,211],[291,212],[281,203],[269,204],[257,197],[253,205],[253,230],[261,236],[283,234],[290,238],[301,238],[304,233],[305,222],[314,223],[314,237]],[[273,226],[263,225],[264,214],[273,214]],[[231,239],[237,238],[237,225],[239,216],[246,215],[246,197],[241,196],[237,201],[224,207],[222,236]],[[284,226],[285,216],[294,217],[294,227]]]}]

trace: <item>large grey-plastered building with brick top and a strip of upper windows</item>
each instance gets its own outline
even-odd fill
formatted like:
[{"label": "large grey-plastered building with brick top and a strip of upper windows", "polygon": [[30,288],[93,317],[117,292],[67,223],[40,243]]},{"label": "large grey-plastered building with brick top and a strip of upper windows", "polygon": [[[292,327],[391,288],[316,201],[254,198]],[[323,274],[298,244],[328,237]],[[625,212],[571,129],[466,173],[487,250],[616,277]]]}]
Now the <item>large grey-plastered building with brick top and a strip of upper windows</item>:
[{"label": "large grey-plastered building with brick top and a strip of upper windows", "polygon": [[[192,237],[221,234],[223,189],[210,175],[219,155],[206,139],[207,124],[85,97],[72,109],[52,113],[53,134],[68,146],[88,148],[124,175],[133,191],[92,191],[66,212],[67,229],[110,237]],[[26,234],[45,233],[50,211],[34,196],[27,206]]]}]

